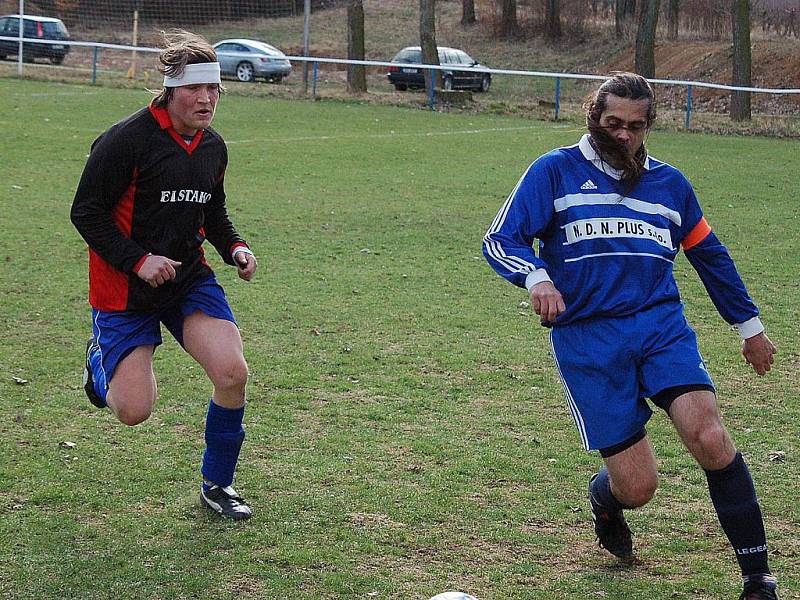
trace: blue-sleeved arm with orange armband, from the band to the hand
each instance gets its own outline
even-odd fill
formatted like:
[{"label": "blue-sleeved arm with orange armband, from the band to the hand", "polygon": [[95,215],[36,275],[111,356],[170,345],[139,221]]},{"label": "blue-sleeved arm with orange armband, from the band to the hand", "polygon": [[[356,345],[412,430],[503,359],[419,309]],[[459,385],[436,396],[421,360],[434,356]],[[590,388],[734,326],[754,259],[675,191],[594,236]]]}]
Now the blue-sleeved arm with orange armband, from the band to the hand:
[{"label": "blue-sleeved arm with orange armband, from the band to the hand", "polygon": [[738,329],[745,360],[756,373],[764,375],[773,364],[777,348],[764,332],[758,307],[750,298],[728,249],[703,217],[681,246],[719,314]]}]

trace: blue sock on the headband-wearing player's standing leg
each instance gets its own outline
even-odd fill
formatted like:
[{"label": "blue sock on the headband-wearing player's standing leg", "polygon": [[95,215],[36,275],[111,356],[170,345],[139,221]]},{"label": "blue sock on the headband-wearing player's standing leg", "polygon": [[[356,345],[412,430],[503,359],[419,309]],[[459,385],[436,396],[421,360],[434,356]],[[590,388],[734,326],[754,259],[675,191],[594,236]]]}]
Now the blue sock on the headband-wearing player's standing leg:
[{"label": "blue sock on the headband-wearing player's standing leg", "polygon": [[233,472],[239,460],[239,451],[244,442],[244,406],[224,408],[208,405],[206,416],[206,451],[203,453],[203,488],[211,485],[227,487],[233,483]]}]

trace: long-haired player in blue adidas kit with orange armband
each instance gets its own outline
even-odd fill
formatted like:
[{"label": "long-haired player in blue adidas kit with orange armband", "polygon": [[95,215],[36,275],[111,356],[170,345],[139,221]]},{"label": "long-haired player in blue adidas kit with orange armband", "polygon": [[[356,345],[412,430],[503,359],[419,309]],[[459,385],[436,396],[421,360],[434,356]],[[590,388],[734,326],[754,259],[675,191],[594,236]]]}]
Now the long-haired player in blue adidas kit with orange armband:
[{"label": "long-haired player in blue adidas kit with orange armband", "polygon": [[[691,184],[647,154],[656,117],[648,82],[616,73],[586,103],[588,134],[541,156],[484,237],[491,266],[528,289],[550,327],[565,397],[581,441],[604,466],[589,484],[595,533],[633,556],[626,509],[657,486],[645,424],[663,409],[704,469],[720,524],[741,567],[740,600],[775,600],[776,579],[747,464],[722,424],[714,384],[683,314],[673,264],[682,247],[759,375],[776,348]],[[538,255],[533,243],[538,240]]]}]

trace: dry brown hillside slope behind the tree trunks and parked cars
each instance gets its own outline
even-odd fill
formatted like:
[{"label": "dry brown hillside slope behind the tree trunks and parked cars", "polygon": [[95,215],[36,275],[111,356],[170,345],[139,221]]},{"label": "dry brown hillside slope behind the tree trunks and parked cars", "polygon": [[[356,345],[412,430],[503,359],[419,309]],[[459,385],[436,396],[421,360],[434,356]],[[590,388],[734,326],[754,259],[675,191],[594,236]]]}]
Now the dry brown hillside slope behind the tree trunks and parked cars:
[{"label": "dry brown hillside slope behind the tree trunks and parked cars", "polygon": [[[523,30],[520,37],[499,39],[494,33],[494,16],[478,3],[478,23],[460,24],[461,2],[437,3],[437,42],[463,48],[482,63],[495,68],[606,74],[633,69],[631,40],[618,39],[613,23],[585,24],[553,45],[535,31]],[[484,11],[481,13],[480,8]],[[364,0],[366,54],[372,60],[390,60],[404,46],[418,45],[418,10],[408,0]],[[266,20],[257,34],[282,47],[287,54],[302,54],[302,18]],[[632,36],[631,36],[632,37]],[[346,13],[344,8],[320,11],[311,18],[311,53],[346,57]],[[800,40],[768,37],[753,31],[753,85],[765,88],[800,89]],[[727,40],[698,40],[682,33],[675,42],[659,40],[656,46],[656,77],[730,83],[731,44]],[[675,94],[685,90],[674,90]],[[709,109],[727,110],[728,94],[699,91],[699,103]],[[754,109],[777,114],[800,112],[800,95],[756,95]]]}]

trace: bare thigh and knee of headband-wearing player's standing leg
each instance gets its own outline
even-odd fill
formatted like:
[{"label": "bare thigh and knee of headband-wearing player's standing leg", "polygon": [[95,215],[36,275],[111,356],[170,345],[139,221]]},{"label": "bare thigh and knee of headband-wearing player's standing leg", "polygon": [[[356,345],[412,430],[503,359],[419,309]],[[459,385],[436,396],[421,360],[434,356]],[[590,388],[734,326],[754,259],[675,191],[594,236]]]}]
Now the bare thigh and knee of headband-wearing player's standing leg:
[{"label": "bare thigh and knee of headband-wearing player's standing leg", "polygon": [[184,320],[183,347],[215,386],[244,388],[247,363],[235,323],[195,311]]}]

